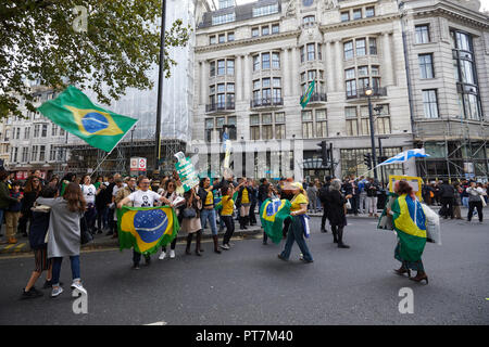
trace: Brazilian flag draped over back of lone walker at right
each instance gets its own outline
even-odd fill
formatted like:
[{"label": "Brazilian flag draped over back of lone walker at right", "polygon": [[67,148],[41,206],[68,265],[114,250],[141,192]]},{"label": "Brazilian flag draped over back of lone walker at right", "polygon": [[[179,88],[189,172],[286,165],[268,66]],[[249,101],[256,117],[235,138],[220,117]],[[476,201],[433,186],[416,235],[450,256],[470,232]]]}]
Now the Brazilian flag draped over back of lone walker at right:
[{"label": "Brazilian flag draped over back of lone walker at right", "polygon": [[422,204],[401,195],[392,203],[391,209],[393,228],[401,241],[401,258],[419,260],[426,245],[426,216]]}]

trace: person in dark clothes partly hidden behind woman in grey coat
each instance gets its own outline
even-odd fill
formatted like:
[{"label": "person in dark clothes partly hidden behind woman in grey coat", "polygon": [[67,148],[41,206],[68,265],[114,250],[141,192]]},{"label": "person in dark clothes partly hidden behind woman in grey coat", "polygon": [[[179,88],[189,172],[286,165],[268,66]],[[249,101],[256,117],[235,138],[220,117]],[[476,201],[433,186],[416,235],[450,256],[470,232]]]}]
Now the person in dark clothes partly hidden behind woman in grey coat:
[{"label": "person in dark clothes partly hidden behind woman in grey coat", "polygon": [[[49,185],[45,187],[40,192],[40,196],[48,198],[55,197],[57,189]],[[43,288],[51,287],[52,285],[52,262],[51,259],[48,259],[48,244],[45,242],[46,233],[49,228],[49,208],[33,207],[33,218],[29,228],[29,244],[30,248],[34,250],[35,268],[27,285],[23,290],[21,298],[42,296],[42,293],[36,290],[34,285],[45,270],[48,270],[48,274],[46,275]]]}]

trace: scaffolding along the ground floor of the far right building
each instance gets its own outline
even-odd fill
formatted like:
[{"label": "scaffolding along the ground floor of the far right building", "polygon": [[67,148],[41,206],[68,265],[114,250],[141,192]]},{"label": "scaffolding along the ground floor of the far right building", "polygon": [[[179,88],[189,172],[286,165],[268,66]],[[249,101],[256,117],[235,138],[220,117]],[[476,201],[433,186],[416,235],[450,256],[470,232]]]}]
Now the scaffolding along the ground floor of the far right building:
[{"label": "scaffolding along the ground floor of the far right building", "polygon": [[[414,131],[414,143],[425,147],[431,155],[416,160],[418,174],[423,178],[488,181],[489,126],[487,124],[465,119],[440,119],[432,123],[432,129],[429,129],[427,125],[427,123],[416,123]],[[441,150],[441,153],[434,153],[436,149]]]}]

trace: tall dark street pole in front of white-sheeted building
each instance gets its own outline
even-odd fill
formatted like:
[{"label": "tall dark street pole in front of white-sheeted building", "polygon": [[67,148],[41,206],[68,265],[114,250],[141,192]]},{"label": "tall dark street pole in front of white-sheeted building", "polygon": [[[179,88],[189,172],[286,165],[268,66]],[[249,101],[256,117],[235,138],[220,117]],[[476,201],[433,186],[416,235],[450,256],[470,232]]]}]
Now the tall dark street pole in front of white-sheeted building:
[{"label": "tall dark street pole in front of white-sheeted building", "polygon": [[158,76],[158,108],[156,108],[156,132],[155,132],[155,149],[154,149],[154,169],[160,168],[161,157],[161,112],[163,99],[163,80],[164,80],[164,59],[165,59],[165,14],[166,1],[162,0],[161,4],[161,34],[160,34],[160,72]]}]

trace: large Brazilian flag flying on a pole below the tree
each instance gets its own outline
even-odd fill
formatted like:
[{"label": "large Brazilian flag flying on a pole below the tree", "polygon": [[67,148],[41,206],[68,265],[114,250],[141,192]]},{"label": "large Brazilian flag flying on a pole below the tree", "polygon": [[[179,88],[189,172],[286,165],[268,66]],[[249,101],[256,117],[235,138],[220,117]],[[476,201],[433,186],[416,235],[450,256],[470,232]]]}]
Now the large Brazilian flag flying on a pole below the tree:
[{"label": "large Brazilian flag flying on a pole below the tree", "polygon": [[138,121],[95,105],[73,86],[37,110],[67,132],[105,152],[111,152]]}]

